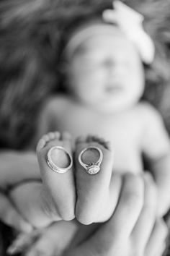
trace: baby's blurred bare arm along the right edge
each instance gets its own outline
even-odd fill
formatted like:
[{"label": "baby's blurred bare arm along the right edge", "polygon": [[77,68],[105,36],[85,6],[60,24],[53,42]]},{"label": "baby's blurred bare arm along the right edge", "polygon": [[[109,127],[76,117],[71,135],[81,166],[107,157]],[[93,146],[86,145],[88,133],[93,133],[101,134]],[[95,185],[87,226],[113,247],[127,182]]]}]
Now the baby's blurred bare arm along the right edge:
[{"label": "baby's blurred bare arm along the right edge", "polygon": [[160,114],[143,105],[145,127],[143,153],[158,187],[158,213],[163,216],[170,207],[170,140]]}]

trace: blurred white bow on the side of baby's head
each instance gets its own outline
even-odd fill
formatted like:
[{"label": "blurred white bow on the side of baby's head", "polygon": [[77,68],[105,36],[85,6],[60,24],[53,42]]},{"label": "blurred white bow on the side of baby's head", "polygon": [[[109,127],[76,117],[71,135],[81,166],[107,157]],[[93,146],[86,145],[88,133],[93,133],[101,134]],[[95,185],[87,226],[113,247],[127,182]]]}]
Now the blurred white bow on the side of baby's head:
[{"label": "blurred white bow on the side of baby's head", "polygon": [[113,2],[113,7],[114,9],[104,10],[103,20],[119,25],[125,35],[135,43],[143,62],[151,64],[155,46],[151,37],[143,30],[143,15],[118,0]]}]

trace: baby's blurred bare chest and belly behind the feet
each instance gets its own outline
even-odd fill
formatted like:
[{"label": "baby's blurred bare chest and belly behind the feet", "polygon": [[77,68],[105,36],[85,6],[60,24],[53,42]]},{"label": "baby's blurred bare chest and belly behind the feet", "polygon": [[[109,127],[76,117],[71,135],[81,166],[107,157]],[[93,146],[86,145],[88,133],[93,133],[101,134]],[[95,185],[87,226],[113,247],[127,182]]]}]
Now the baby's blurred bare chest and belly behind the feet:
[{"label": "baby's blurred bare chest and belly behind the feet", "polygon": [[110,142],[115,169],[139,171],[142,169],[141,142],[142,127],[140,119],[133,114],[95,115],[92,113],[71,113],[58,122],[60,131],[67,130],[73,140],[76,137],[96,135]]}]

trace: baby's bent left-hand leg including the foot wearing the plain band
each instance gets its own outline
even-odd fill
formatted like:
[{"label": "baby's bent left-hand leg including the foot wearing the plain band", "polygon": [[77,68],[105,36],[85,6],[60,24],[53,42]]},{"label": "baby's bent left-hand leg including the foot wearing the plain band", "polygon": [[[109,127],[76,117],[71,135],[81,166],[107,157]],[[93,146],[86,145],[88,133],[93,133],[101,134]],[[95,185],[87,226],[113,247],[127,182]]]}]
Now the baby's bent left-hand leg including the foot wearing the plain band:
[{"label": "baby's bent left-hand leg including the foot wearing the plain band", "polygon": [[[48,166],[47,154],[53,146],[63,147],[72,155],[71,139],[66,133],[60,135],[58,132],[50,132],[43,136],[37,145],[37,156],[44,184],[27,182],[18,185],[10,193],[19,213],[36,228],[45,227],[52,221],[74,218],[76,193],[73,172],[69,169],[60,174]],[[59,148],[53,155],[58,166],[67,165],[66,152]]]}]

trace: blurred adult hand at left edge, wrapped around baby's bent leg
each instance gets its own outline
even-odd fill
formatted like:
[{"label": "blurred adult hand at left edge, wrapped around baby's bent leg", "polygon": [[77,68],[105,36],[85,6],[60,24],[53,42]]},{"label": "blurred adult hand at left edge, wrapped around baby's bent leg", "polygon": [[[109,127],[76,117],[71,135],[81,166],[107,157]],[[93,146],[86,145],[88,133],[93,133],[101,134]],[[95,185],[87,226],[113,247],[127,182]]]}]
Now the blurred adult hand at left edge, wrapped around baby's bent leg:
[{"label": "blurred adult hand at left edge, wrapped around baby's bent leg", "polygon": [[14,229],[30,232],[32,226],[22,218],[9,200],[7,190],[25,180],[39,179],[40,171],[35,153],[4,151],[0,153],[0,219]]}]

